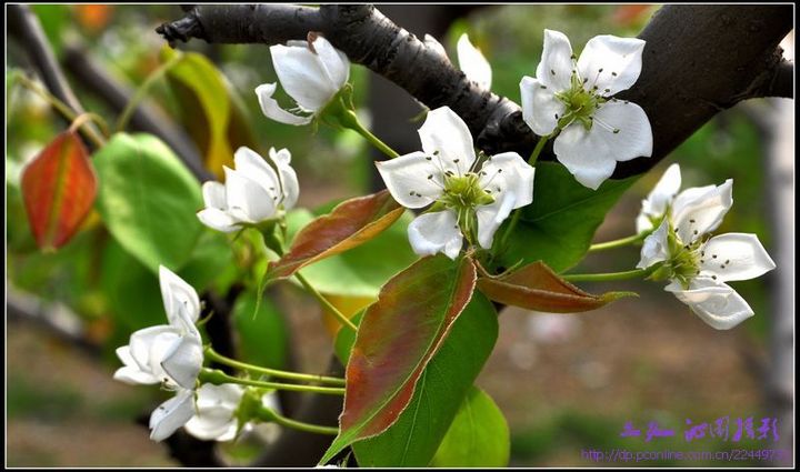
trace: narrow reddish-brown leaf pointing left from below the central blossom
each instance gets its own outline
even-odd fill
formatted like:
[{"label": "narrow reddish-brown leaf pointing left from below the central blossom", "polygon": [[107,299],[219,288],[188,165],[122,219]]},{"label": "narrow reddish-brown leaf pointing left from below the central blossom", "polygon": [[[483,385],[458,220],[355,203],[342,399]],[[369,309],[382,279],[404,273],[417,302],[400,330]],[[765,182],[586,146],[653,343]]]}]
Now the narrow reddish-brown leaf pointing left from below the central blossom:
[{"label": "narrow reddish-brown leaf pointing left from below the central blossom", "polygon": [[270,262],[266,280],[291,277],[304,265],[363,244],[391,227],[403,211],[386,190],[347,200],[300,230],[289,251]]}]

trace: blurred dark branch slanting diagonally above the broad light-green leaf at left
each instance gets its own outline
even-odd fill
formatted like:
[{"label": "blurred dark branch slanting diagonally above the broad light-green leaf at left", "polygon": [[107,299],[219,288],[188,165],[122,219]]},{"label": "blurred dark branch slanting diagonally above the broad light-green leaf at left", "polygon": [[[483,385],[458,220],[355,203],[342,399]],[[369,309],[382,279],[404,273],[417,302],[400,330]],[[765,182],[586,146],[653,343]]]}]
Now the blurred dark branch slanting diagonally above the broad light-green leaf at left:
[{"label": "blurred dark branch slanting diagonally above the broad light-green leaf at left", "polygon": [[[63,66],[79,83],[86,86],[88,92],[102,99],[116,113],[121,113],[133,96],[131,90],[91,60],[82,48],[67,47]],[[203,167],[202,157],[191,139],[153,107],[146,102],[140,103],[131,116],[129,128],[159,137],[201,182],[213,179]]]}]

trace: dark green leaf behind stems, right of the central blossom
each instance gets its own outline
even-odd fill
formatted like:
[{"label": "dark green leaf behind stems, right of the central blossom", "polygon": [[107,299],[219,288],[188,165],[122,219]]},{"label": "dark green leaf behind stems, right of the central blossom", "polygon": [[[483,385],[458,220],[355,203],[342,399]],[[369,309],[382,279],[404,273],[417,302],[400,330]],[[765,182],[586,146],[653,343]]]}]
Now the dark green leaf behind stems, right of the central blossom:
[{"label": "dark green leaf behind stems, right of the central blossom", "polygon": [[[533,202],[522,210],[509,247],[500,255],[500,265],[543,261],[556,272],[573,267],[589,250],[606,213],[636,179],[607,180],[591,190],[578,183],[563,165],[538,162]],[[509,221],[498,234],[503,234]]]}]

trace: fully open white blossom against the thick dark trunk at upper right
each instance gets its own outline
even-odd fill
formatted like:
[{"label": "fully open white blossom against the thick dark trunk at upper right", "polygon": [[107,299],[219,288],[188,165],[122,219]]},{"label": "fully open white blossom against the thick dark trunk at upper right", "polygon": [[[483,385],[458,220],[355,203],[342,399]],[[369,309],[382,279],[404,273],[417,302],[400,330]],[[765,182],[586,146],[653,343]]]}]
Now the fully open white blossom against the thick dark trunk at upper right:
[{"label": "fully open white blossom against the thick dark trunk at upper right", "polygon": [[639,78],[643,49],[643,40],[603,34],[576,60],[563,33],[544,30],[537,77],[520,82],[526,123],[539,135],[558,132],[556,157],[590,189],[611,177],[618,161],[652,154],[644,110],[612,98]]}]

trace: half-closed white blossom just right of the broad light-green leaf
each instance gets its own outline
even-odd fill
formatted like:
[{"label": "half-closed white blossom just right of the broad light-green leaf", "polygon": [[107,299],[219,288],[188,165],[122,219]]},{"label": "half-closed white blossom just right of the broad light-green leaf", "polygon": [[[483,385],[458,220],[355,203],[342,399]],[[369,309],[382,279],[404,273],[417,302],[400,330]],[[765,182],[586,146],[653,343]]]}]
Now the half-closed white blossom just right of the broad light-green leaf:
[{"label": "half-closed white blossom just right of the broad light-green leaf", "polygon": [[[270,148],[274,169],[256,151],[241,147],[233,154],[236,170],[224,168],[226,183],[203,183],[206,208],[200,221],[218,231],[238,231],[246,224],[280,218],[294,207],[300,187],[287,149]],[[277,171],[276,171],[277,170]]]}]

